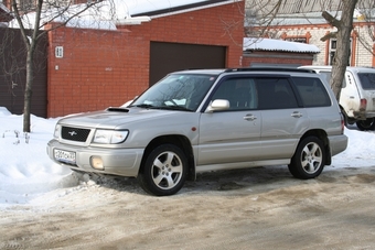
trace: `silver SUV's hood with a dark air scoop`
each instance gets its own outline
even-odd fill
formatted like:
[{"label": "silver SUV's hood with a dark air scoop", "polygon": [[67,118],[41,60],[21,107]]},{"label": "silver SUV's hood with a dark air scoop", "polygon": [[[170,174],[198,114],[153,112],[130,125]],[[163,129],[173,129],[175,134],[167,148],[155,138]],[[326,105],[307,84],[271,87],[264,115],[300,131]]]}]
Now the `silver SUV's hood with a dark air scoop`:
[{"label": "silver SUV's hood with a dark air scoop", "polygon": [[[185,111],[144,109],[144,108],[108,108],[103,111],[71,115],[62,118],[58,123],[63,126],[82,128],[121,129],[129,123],[148,122],[153,119],[186,113]],[[191,113],[191,112],[188,112]]]}]

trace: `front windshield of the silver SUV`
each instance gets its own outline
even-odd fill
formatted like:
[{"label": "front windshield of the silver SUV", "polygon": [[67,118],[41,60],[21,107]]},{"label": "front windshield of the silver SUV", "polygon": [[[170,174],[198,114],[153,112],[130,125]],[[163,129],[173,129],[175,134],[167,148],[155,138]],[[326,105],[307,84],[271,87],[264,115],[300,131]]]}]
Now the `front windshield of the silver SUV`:
[{"label": "front windshield of the silver SUV", "polygon": [[217,76],[171,74],[146,90],[130,107],[195,111]]}]

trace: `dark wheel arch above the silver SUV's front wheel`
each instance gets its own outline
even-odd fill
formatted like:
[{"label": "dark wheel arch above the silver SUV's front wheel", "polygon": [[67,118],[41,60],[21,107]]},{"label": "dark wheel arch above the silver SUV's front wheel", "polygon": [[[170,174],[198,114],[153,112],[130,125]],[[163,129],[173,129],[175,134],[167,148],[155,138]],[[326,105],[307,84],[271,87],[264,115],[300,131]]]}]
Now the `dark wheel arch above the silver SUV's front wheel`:
[{"label": "dark wheel arch above the silver SUV's front wheel", "polygon": [[150,141],[150,143],[146,146],[140,170],[142,170],[147,156],[151,153],[153,149],[161,144],[173,144],[179,146],[184,153],[188,159],[188,180],[194,181],[195,180],[195,161],[194,161],[194,153],[191,145],[190,140],[181,134],[168,134],[168,135],[160,135],[154,138]]}]

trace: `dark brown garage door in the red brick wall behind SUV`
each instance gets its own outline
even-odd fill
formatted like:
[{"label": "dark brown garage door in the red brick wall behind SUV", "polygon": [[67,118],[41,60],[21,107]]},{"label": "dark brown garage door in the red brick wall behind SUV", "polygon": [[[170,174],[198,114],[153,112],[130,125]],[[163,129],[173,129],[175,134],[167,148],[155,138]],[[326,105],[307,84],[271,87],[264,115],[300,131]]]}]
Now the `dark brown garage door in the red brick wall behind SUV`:
[{"label": "dark brown garage door in the red brick wall behind SUV", "polygon": [[151,42],[150,86],[170,72],[188,68],[225,67],[226,47]]}]

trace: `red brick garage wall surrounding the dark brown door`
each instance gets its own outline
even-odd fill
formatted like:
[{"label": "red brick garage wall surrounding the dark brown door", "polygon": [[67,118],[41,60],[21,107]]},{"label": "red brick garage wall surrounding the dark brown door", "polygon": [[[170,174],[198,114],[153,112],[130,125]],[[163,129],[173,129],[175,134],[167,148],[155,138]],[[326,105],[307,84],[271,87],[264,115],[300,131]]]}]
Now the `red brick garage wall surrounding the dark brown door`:
[{"label": "red brick garage wall surrounding the dark brown door", "polygon": [[[120,106],[139,95],[149,86],[150,41],[227,46],[226,66],[240,66],[243,4],[158,18],[118,31],[50,32],[47,117]],[[56,46],[63,47],[62,58],[55,57]]]}]

